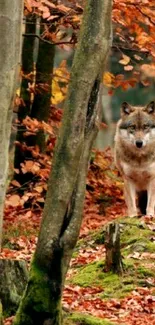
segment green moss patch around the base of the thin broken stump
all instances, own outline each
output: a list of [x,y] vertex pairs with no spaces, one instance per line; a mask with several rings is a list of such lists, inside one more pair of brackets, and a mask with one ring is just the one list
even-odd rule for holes
[[124,274],[119,277],[117,274],[104,272],[103,262],[94,262],[89,265],[79,267],[78,272],[73,275],[70,282],[82,287],[99,286],[103,288],[101,298],[123,298],[128,292],[134,290],[137,286],[146,285],[145,279],[155,277],[155,271],[142,267],[141,261],[129,259],[124,263]]

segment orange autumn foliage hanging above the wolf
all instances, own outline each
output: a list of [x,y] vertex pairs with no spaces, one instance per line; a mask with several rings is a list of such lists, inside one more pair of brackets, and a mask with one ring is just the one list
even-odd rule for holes
[[[112,89],[127,90],[140,82],[150,86],[155,76],[155,6],[153,0],[114,0],[113,50],[118,51],[124,74],[111,75]],[[145,63],[145,61],[147,61]]]

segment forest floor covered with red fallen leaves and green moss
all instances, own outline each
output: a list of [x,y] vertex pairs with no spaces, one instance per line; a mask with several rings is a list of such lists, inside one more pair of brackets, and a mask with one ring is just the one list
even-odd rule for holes
[[[0,258],[29,263],[36,246],[41,209],[33,211],[27,200],[26,207],[21,202],[17,205],[15,193],[6,198]],[[65,325],[155,325],[155,223],[147,216],[128,218],[125,214],[123,183],[111,150],[94,151],[83,223],[63,294],[63,308],[69,314]],[[105,270],[105,227],[113,220],[120,224],[124,267],[121,276]],[[11,325],[12,319],[13,316],[5,319],[4,324]]]

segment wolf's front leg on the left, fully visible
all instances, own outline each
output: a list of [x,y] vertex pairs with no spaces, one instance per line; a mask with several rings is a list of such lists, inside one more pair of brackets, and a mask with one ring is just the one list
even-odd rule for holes
[[135,185],[128,179],[124,180],[124,198],[128,208],[128,215],[130,217],[136,216],[136,188]]

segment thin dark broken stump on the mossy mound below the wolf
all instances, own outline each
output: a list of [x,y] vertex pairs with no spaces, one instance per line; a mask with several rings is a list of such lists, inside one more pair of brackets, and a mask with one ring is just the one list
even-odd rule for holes
[[120,251],[120,228],[118,223],[110,223],[106,228],[106,271],[121,274],[123,272]]

